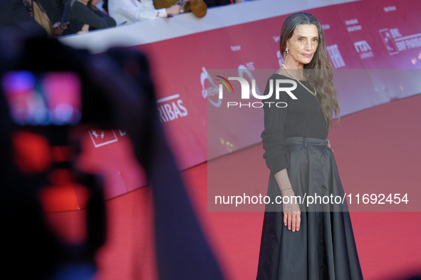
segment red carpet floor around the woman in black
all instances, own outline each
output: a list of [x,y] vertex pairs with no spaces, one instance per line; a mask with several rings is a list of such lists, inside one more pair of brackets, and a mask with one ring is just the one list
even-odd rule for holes
[[[420,200],[421,95],[396,100],[342,118],[329,134],[345,192],[404,193]],[[263,162],[261,145],[223,157],[241,165]],[[244,168],[243,168],[244,167]],[[266,170],[251,173],[267,186]],[[207,164],[182,172],[202,227],[227,279],[255,279],[263,213],[207,212]],[[257,177],[256,177],[257,176]],[[239,184],[250,182],[246,176]],[[108,242],[98,253],[101,279],[156,279],[148,187],[106,202]],[[417,211],[421,211],[420,204]],[[394,208],[388,208],[390,211]],[[396,211],[399,209],[395,208]],[[84,211],[50,215],[61,236],[83,238]],[[352,212],[365,279],[406,279],[421,274],[421,212]],[[59,230],[60,229],[60,230]]]

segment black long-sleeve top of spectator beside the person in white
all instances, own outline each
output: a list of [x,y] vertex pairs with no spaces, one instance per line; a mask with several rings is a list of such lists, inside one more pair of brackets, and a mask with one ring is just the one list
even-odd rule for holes
[[92,11],[79,1],[68,1],[64,6],[61,23],[70,21],[63,35],[74,34],[80,31],[83,24],[88,24],[93,29],[103,29],[115,26],[115,20],[102,11]]

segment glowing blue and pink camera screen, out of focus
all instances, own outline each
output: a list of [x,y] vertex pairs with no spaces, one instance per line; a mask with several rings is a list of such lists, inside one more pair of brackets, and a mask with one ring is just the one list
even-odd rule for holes
[[81,83],[73,72],[14,71],[1,78],[19,125],[73,125],[81,118]]

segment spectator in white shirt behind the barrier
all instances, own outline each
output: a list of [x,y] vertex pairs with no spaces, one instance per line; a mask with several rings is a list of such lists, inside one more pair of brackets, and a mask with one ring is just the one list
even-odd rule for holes
[[108,13],[117,24],[165,18],[168,15],[180,14],[180,10],[181,6],[178,4],[166,9],[155,9],[152,0],[108,0]]

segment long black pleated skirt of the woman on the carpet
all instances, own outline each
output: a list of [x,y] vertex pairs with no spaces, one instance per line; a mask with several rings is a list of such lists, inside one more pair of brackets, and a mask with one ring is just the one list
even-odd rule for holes
[[[294,194],[303,199],[300,230],[291,232],[284,226],[282,204],[266,204],[256,279],[363,279],[345,193],[327,141],[291,137],[285,145],[289,180]],[[268,196],[271,202],[281,197],[273,174]],[[310,203],[309,196],[325,200]]]

